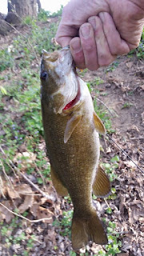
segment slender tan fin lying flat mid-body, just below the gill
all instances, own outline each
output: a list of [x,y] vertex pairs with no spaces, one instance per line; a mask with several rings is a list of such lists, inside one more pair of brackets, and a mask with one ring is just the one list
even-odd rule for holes
[[66,130],[64,134],[64,142],[66,143],[71,134],[73,133],[76,126],[78,126],[78,122],[81,121],[82,115],[81,114],[74,114],[72,118],[66,124]]

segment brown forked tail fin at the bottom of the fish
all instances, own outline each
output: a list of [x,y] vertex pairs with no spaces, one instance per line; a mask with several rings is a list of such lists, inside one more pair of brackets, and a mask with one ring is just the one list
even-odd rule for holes
[[89,241],[99,245],[105,245],[107,243],[107,237],[102,222],[95,211],[91,212],[89,218],[73,217],[71,240],[74,250],[86,246]]

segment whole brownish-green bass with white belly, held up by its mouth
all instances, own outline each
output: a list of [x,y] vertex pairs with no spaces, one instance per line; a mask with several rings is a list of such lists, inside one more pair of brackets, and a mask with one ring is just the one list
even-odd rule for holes
[[74,206],[71,241],[74,250],[89,241],[100,245],[107,236],[94,208],[110,194],[110,181],[99,165],[99,134],[105,126],[94,111],[90,91],[77,74],[68,46],[42,50],[41,104],[50,174],[60,196],[70,194]]

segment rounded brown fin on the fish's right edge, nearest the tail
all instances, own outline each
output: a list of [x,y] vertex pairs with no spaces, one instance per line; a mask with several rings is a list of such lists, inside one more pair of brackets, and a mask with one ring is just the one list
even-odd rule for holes
[[97,174],[94,179],[93,193],[98,198],[105,198],[110,194],[110,180],[101,166],[98,166]]

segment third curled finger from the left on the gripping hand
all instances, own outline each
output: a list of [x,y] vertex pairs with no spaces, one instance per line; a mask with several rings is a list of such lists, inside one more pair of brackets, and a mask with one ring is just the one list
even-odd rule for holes
[[108,66],[111,62],[114,62],[116,56],[110,53],[110,48],[103,31],[102,21],[98,16],[93,16],[88,19],[88,22],[90,22],[94,28],[98,65]]

